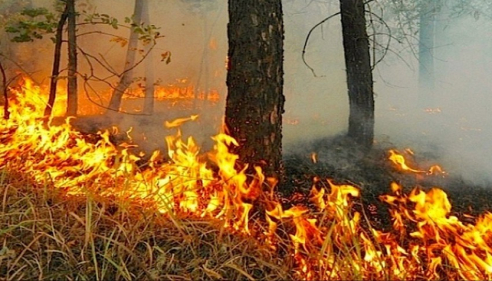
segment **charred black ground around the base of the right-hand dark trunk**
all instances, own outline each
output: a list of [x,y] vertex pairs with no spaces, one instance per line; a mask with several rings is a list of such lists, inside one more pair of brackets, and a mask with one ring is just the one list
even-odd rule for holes
[[[290,197],[297,193],[309,194],[313,185],[313,177],[331,178],[335,184],[351,184],[361,188],[361,201],[366,214],[380,227],[391,225],[388,216],[388,204],[380,200],[380,195],[391,194],[390,184],[399,183],[403,192],[413,188],[429,190],[441,188],[448,195],[453,208],[451,214],[462,221],[471,222],[464,214],[479,216],[492,211],[492,183],[476,185],[466,182],[459,175],[425,175],[402,172],[396,169],[389,159],[389,149],[402,151],[391,143],[377,143],[368,155],[357,149],[357,145],[344,136],[324,138],[312,143],[304,143],[304,153],[285,155],[287,183],[285,190]],[[311,160],[311,152],[317,153],[317,162]],[[408,165],[414,169],[428,169],[428,163],[436,161],[437,152],[415,152],[415,159],[407,158]],[[411,161],[413,160],[413,161]],[[424,164],[422,164],[424,163]],[[446,171],[446,166],[443,167]]]

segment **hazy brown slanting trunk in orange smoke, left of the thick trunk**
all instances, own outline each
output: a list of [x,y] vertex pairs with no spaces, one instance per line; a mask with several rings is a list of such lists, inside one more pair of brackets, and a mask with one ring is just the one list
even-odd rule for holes
[[[135,8],[134,8],[134,22],[136,25],[140,25],[142,22],[142,11],[143,11],[143,1],[135,0]],[[122,105],[122,98],[124,91],[128,89],[131,85],[131,79],[133,77],[133,67],[136,56],[136,49],[138,47],[138,34],[135,32],[135,28],[131,28],[130,31],[130,39],[128,43],[127,49],[127,58],[125,59],[124,64],[124,72],[122,77],[119,79],[119,83],[116,88],[112,92],[110,104],[108,105],[108,111],[106,112],[109,115],[113,115],[114,113],[119,111],[119,107]]]

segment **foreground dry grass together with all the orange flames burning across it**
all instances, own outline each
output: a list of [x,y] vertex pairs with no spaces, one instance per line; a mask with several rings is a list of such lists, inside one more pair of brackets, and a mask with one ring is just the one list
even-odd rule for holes
[[178,131],[167,137],[169,161],[155,152],[143,167],[108,132],[89,142],[68,122],[45,124],[39,96],[23,86],[0,126],[8,280],[492,278],[492,214],[463,223],[440,189],[391,184],[383,231],[353,185],[315,179],[309,199],[283,202],[274,179],[238,167],[224,133],[207,155]]

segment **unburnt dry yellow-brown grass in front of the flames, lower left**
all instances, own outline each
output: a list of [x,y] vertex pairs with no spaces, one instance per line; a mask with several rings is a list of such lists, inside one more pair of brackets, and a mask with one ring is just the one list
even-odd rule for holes
[[67,197],[0,172],[0,280],[291,280],[292,264],[220,222]]

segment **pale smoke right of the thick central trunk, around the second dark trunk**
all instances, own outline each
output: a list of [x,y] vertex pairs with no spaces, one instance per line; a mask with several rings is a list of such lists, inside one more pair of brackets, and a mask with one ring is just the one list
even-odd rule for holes
[[[333,136],[347,131],[349,108],[341,27],[339,18],[333,18],[323,30],[313,32],[306,48],[306,60],[318,75],[313,77],[300,58],[304,39],[313,25],[338,11],[337,1],[287,3],[285,150],[301,147],[306,154],[314,148],[306,148],[306,143],[318,138],[331,142]],[[417,49],[412,51],[408,45],[393,41],[391,51],[377,65],[375,138],[378,143],[429,155],[452,176],[461,176],[472,184],[487,184],[492,181],[492,150],[488,149],[492,143],[492,44],[488,37],[492,22],[485,16],[477,19],[471,15],[440,20],[436,22],[432,50],[436,77],[430,93],[433,98],[426,100],[419,94]],[[387,38],[377,39],[383,43]],[[418,42],[409,40],[415,48]],[[432,104],[432,99],[434,106],[422,107]]]

